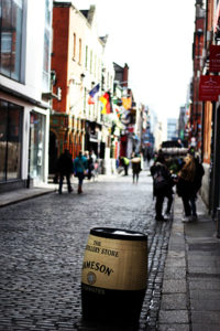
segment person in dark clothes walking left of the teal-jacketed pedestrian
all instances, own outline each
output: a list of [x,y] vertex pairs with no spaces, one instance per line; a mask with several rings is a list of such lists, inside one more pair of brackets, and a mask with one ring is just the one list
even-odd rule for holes
[[70,175],[73,173],[73,159],[72,154],[69,153],[68,149],[65,149],[64,153],[61,154],[57,161],[57,171],[59,177],[59,186],[58,186],[58,193],[62,194],[62,188],[64,178],[66,178],[68,192],[70,193],[73,191],[72,184],[70,184]]

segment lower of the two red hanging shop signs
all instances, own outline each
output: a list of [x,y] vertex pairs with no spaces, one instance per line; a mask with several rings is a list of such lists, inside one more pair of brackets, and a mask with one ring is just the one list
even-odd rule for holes
[[217,102],[220,95],[220,76],[200,76],[199,100]]

